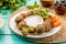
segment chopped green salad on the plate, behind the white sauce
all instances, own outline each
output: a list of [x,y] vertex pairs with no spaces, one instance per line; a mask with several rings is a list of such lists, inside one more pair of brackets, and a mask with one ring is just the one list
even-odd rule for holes
[[47,9],[42,9],[42,8],[37,8],[34,10],[34,14],[36,15],[41,15],[42,18],[44,19],[47,19],[50,15],[48,15],[48,10]]

